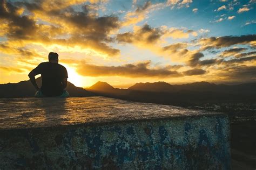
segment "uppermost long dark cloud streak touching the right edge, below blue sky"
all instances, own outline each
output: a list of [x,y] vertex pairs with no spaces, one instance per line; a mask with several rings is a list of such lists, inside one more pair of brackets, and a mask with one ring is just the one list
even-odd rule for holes
[[240,37],[224,36],[224,37],[210,37],[200,39],[199,42],[203,45],[203,49],[229,47],[237,44],[249,44],[256,40],[256,34],[244,35]]

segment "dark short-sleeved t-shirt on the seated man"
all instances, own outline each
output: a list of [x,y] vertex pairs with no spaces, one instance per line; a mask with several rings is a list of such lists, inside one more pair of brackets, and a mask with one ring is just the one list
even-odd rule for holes
[[41,91],[46,96],[59,96],[63,93],[62,80],[68,78],[66,68],[58,63],[42,62],[33,73],[41,74]]

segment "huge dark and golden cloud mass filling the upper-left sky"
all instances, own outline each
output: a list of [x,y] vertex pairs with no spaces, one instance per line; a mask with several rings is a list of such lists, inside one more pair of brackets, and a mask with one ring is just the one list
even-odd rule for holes
[[[82,1],[37,1],[33,3],[2,1],[0,17],[8,24],[4,36],[22,46],[39,42],[44,45],[80,46],[108,56],[119,54],[119,49],[109,46],[111,32],[119,29],[115,16],[98,17],[90,5],[76,11],[70,4]],[[16,4],[17,6],[15,6]],[[21,15],[23,8],[31,15]],[[38,24],[37,18],[47,24]],[[64,38],[61,38],[64,37]]]

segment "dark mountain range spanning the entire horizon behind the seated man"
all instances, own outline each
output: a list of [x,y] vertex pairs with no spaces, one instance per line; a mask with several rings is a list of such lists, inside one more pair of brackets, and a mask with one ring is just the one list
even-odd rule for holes
[[[36,79],[41,84],[41,77]],[[66,90],[71,97],[106,96],[137,102],[151,102],[170,105],[194,105],[198,103],[255,102],[256,83],[238,85],[194,82],[172,85],[166,82],[136,83],[128,89],[114,88],[106,82],[97,82],[83,89],[68,82]],[[36,89],[31,82],[0,84],[0,98],[33,97]]]

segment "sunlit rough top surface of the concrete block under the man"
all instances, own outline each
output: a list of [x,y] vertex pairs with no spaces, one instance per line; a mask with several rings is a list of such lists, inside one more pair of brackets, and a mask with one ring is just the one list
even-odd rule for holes
[[215,114],[107,97],[0,98],[0,130]]

